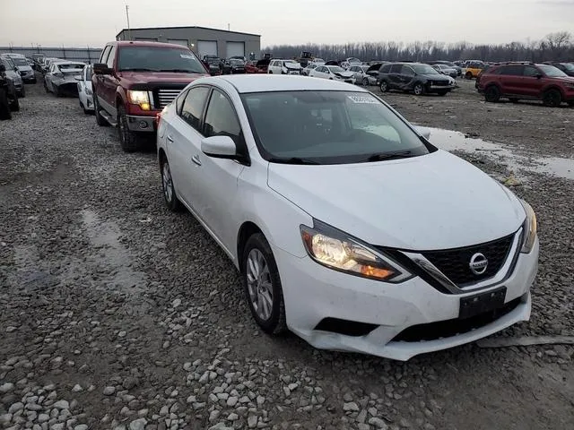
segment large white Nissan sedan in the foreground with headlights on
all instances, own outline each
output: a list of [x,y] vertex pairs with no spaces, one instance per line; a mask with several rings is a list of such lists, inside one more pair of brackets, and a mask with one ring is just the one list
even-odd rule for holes
[[202,78],[157,139],[168,208],[229,255],[268,333],[406,360],[530,317],[532,208],[367,90]]

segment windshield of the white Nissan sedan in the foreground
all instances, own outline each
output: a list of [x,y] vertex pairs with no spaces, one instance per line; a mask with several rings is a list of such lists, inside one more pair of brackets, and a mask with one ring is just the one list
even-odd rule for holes
[[257,92],[242,99],[259,149],[270,161],[347,164],[430,152],[368,92]]

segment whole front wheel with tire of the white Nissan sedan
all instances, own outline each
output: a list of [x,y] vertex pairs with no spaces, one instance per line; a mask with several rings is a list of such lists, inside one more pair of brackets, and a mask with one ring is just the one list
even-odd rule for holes
[[248,238],[241,262],[245,297],[256,323],[266,333],[284,333],[287,323],[283,288],[273,251],[263,234]]

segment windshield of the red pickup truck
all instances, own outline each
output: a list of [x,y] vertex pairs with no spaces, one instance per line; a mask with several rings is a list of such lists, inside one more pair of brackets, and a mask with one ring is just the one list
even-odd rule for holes
[[120,72],[205,73],[193,52],[183,47],[120,47],[117,69]]

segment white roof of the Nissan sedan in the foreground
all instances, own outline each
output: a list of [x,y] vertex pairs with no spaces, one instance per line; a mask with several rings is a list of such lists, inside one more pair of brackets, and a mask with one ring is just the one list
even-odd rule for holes
[[230,83],[239,93],[326,90],[368,92],[360,87],[344,82],[309,78],[307,76],[282,76],[274,74],[224,74],[221,76],[202,78],[196,82],[216,84],[221,81]]

